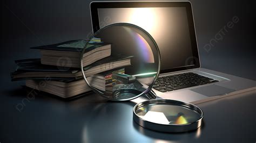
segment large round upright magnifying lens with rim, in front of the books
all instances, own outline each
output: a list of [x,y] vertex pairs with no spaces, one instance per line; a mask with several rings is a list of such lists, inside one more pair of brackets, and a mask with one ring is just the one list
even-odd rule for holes
[[160,53],[144,29],[117,23],[98,30],[86,43],[81,67],[96,93],[116,101],[149,93],[160,71]]

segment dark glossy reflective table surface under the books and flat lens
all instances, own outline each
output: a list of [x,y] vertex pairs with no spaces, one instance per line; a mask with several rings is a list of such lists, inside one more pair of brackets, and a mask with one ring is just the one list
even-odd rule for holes
[[133,121],[131,101],[112,102],[95,93],[66,101],[38,91],[27,96],[13,86],[1,92],[1,143],[256,141],[255,91],[198,104],[204,125],[196,131],[160,133]]

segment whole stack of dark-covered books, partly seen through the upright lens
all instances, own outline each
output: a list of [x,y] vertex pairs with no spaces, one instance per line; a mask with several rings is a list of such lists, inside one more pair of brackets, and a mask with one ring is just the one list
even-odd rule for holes
[[111,55],[111,44],[95,38],[87,45],[81,62],[86,43],[87,40],[70,40],[32,47],[40,51],[41,58],[16,60],[11,80],[25,80],[27,87],[62,98],[76,97],[91,91],[80,70],[83,63],[86,80],[92,87],[111,90],[115,84],[112,74],[124,73],[132,56]]

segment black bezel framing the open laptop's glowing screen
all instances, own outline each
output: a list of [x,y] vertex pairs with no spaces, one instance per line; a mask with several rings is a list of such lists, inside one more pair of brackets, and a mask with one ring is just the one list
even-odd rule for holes
[[[188,57],[193,60],[194,65],[174,67],[171,69],[160,70],[160,73],[176,72],[183,70],[196,69],[200,67],[198,54],[196,31],[194,29],[194,19],[192,6],[190,2],[91,2],[91,22],[93,33],[100,29],[98,8],[160,8],[160,7],[185,7],[187,13],[188,27],[190,30],[190,39],[193,57]],[[190,59],[190,60],[191,60]]]

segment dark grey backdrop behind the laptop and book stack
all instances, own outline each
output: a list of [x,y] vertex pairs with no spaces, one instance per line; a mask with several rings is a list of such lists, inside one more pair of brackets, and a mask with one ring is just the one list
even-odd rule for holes
[[[39,57],[29,47],[86,38],[91,32],[91,1],[4,1],[1,75],[9,78],[15,59]],[[191,1],[201,66],[256,80],[255,2]],[[239,22],[210,51],[203,47],[234,16]],[[8,83],[9,81],[6,80]]]

